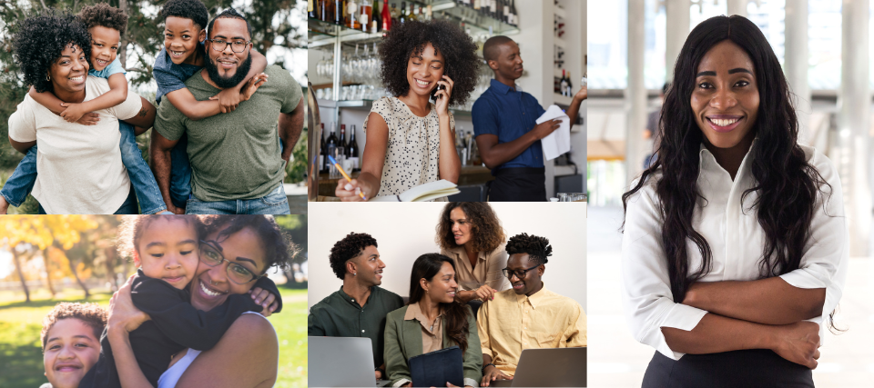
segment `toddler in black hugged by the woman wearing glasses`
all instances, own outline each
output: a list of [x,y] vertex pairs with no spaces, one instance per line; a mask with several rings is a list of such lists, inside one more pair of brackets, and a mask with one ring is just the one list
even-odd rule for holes
[[[130,332],[130,346],[139,368],[152,386],[167,371],[173,354],[186,348],[208,350],[219,343],[230,325],[245,312],[279,313],[279,290],[266,276],[260,277],[249,294],[230,294],[225,303],[203,312],[192,306],[189,283],[198,270],[203,224],[194,215],[129,216],[121,227],[123,250],[133,254],[140,268],[134,276],[131,299],[151,320]],[[261,289],[275,296],[276,303],[253,301]],[[269,305],[269,307],[265,307]],[[97,364],[86,373],[80,388],[121,387],[112,348],[104,331]]]

